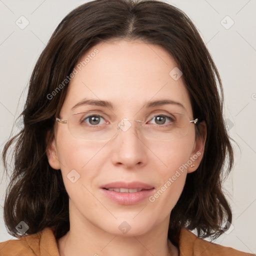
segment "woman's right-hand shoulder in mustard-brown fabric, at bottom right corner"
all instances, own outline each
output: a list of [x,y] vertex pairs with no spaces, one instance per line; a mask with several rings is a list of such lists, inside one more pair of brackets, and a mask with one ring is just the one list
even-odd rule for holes
[[180,231],[179,251],[180,256],[255,256],[255,254],[201,239],[185,228]]

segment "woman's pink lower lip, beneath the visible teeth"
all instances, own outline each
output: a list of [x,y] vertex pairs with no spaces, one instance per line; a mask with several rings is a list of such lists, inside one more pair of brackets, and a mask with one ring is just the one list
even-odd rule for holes
[[134,193],[116,192],[116,191],[107,190],[105,188],[102,188],[102,190],[103,190],[103,193],[114,202],[119,204],[124,204],[124,205],[130,205],[130,204],[138,203],[144,200],[145,198],[148,198],[151,195],[154,188],[141,190]]

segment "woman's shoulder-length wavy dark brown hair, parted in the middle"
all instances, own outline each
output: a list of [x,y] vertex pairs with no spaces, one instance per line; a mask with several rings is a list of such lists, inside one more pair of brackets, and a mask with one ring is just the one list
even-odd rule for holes
[[[7,169],[7,151],[15,143],[14,170],[4,202],[8,232],[18,236],[15,226],[21,220],[29,226],[27,234],[53,227],[59,238],[68,231],[68,195],[60,170],[50,167],[45,153],[68,83],[54,96],[47,95],[73,71],[89,48],[111,39],[140,39],[160,45],[183,72],[193,116],[205,121],[207,136],[201,163],[187,174],[171,211],[168,237],[175,243],[174,236],[181,227],[196,229],[200,237],[218,237],[223,221],[232,220],[221,188],[222,178],[233,164],[222,115],[221,80],[191,20],[178,8],[158,0],[90,1],[72,10],[53,32],[30,78],[22,112],[24,127],[5,144],[2,153]],[[46,141],[48,131],[51,135]],[[198,129],[197,134],[200,132]]]

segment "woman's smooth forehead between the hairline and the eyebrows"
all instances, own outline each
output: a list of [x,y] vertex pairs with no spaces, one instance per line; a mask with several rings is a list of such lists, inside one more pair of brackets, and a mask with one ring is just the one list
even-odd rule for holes
[[[95,53],[96,52],[96,53]],[[169,72],[176,63],[159,45],[142,41],[100,42],[76,63],[61,111],[84,98],[110,101],[122,111],[137,111],[149,100],[178,101],[191,115],[188,92],[182,80]]]

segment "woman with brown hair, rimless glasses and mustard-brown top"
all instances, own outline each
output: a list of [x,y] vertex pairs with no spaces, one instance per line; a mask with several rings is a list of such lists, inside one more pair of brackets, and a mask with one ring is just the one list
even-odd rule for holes
[[0,243],[0,255],[252,255],[199,238],[232,220],[222,101],[212,58],[179,9],[95,0],[71,11],[3,151],[6,167],[16,142],[4,220],[22,237]]

